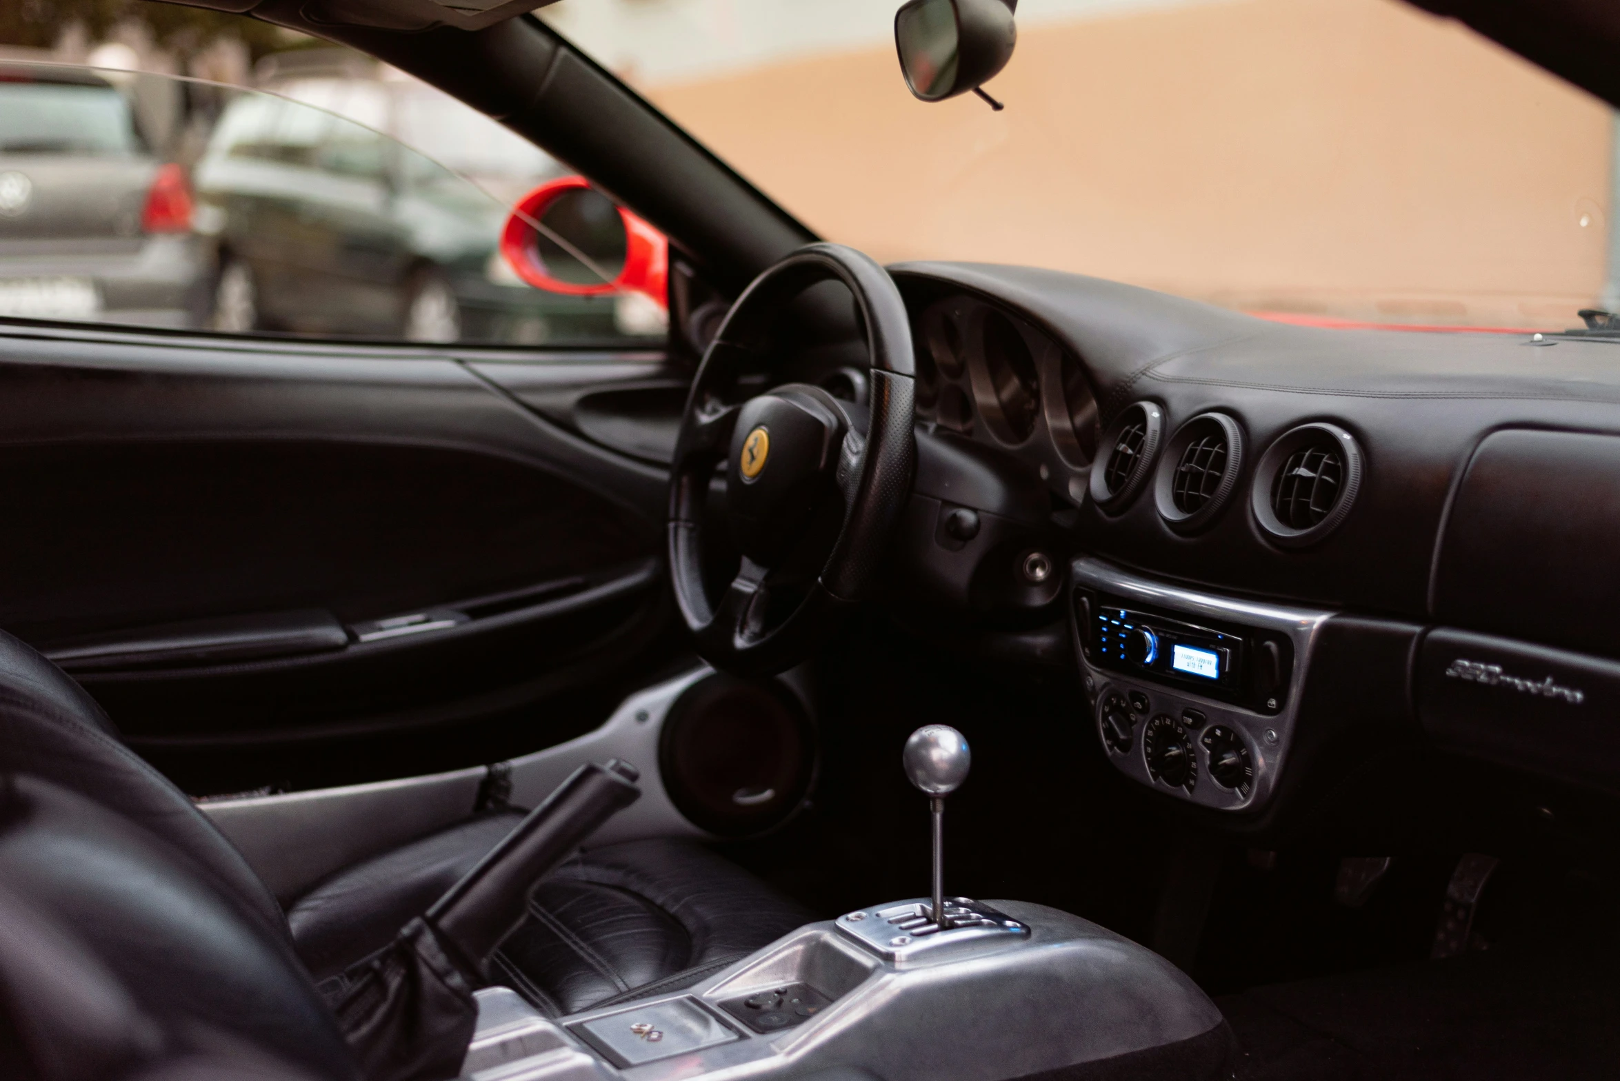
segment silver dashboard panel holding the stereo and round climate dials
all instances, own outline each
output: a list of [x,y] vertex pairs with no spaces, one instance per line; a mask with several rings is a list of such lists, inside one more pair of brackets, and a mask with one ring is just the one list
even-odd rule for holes
[[1089,715],[1115,769],[1207,808],[1264,806],[1332,613],[1192,592],[1094,558],[1069,570]]

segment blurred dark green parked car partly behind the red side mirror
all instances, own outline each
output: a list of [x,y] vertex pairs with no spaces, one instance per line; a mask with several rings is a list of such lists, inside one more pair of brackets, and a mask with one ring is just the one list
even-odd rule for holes
[[[280,87],[301,100],[241,92],[225,107],[196,167],[199,220],[219,241],[214,327],[411,341],[622,338],[624,301],[522,282],[497,249],[507,206],[377,129],[416,105],[410,87],[303,78]],[[356,112],[377,128],[348,118]],[[629,330],[663,333],[646,322]]]

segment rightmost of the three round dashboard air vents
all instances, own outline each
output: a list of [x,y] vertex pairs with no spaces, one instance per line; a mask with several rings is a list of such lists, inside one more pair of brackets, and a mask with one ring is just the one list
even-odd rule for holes
[[1361,447],[1336,424],[1290,429],[1254,471],[1254,519],[1283,547],[1315,544],[1345,521],[1361,489]]

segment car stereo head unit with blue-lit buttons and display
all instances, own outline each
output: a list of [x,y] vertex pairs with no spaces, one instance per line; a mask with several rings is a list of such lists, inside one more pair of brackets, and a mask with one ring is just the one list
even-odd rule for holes
[[1184,686],[1260,712],[1283,706],[1293,647],[1286,636],[1189,623],[1090,589],[1074,594],[1081,651],[1098,668]]

